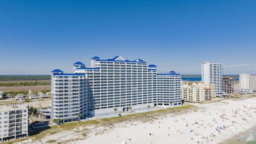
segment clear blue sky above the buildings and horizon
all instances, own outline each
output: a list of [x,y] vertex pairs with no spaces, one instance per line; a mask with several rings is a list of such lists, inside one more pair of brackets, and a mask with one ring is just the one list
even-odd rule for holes
[[72,73],[94,56],[256,74],[256,0],[0,0],[0,75]]

